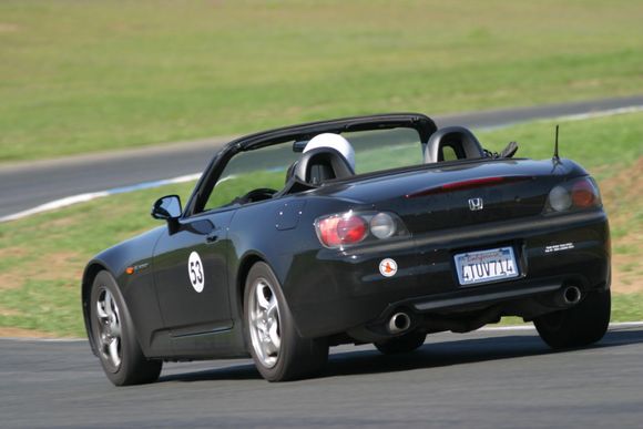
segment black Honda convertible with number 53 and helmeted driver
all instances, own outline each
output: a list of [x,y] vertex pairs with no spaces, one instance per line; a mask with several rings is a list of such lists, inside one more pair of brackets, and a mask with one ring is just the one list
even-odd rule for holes
[[516,150],[417,113],[237,139],[184,206],[154,204],[163,226],[88,264],[93,353],[131,385],[163,361],[248,354],[267,380],[309,377],[330,346],[408,353],[509,315],[553,348],[598,341],[611,303],[596,183]]

